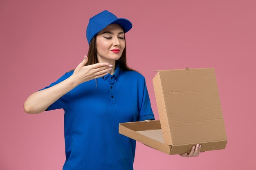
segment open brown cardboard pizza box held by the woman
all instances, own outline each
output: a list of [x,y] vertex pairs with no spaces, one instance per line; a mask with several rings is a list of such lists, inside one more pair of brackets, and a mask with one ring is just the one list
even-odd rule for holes
[[159,70],[153,78],[160,120],[119,124],[119,133],[168,155],[225,149],[214,68]]

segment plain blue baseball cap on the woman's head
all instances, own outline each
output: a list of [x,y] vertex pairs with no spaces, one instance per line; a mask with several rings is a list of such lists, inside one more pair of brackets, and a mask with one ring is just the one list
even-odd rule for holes
[[97,15],[94,15],[89,20],[89,24],[86,29],[86,38],[89,45],[94,35],[106,28],[109,24],[119,24],[125,33],[132,28],[132,23],[129,20],[125,18],[117,18],[116,15],[107,10],[102,11]]

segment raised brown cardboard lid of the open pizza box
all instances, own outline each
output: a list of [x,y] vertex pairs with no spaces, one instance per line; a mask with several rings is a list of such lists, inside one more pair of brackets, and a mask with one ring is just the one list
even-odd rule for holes
[[153,86],[165,144],[227,140],[214,68],[158,70]]

